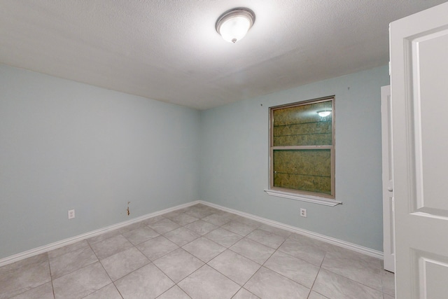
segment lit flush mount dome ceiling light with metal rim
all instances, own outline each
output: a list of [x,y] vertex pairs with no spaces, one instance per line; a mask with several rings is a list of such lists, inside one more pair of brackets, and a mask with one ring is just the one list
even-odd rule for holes
[[236,43],[246,36],[255,22],[255,13],[248,8],[238,7],[226,11],[216,21],[216,31],[225,41]]

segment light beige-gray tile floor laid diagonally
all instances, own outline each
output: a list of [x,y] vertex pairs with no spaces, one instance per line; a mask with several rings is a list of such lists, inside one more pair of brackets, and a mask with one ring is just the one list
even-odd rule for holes
[[390,299],[393,279],[377,258],[197,204],[0,267],[0,299]]

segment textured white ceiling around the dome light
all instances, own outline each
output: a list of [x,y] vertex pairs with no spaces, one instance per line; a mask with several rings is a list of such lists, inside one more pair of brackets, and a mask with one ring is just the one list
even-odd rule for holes
[[[0,63],[195,109],[388,62],[388,23],[441,0],[0,0]],[[232,44],[216,19],[256,15]]]

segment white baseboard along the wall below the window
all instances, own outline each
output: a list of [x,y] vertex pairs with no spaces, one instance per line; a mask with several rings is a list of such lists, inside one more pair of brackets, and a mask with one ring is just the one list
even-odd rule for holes
[[364,246],[360,246],[360,245],[357,245],[357,244],[353,244],[353,243],[350,243],[350,242],[342,241],[340,239],[336,239],[336,238],[333,238],[333,237],[328,237],[328,236],[325,236],[325,235],[321,235],[321,234],[318,234],[316,232],[311,232],[309,230],[302,230],[302,228],[296,228],[295,226],[287,225],[287,224],[280,223],[280,222],[277,222],[277,221],[272,221],[272,220],[269,220],[267,218],[262,218],[260,216],[255,216],[255,215],[252,215],[252,214],[244,213],[242,211],[237,211],[235,209],[229,209],[229,208],[226,208],[226,207],[222,207],[222,206],[220,206],[218,204],[212,204],[210,202],[204,202],[202,200],[199,200],[198,202],[201,203],[201,204],[205,204],[205,205],[207,205],[209,207],[214,207],[216,209],[221,209],[223,211],[228,211],[229,213],[237,214],[239,216],[243,216],[243,217],[246,217],[246,218],[249,218],[249,219],[261,222],[261,223],[265,223],[267,225],[272,225],[272,226],[275,226],[276,228],[282,228],[283,230],[289,230],[290,232],[295,232],[295,233],[297,233],[299,235],[304,235],[304,236],[311,237],[313,239],[318,239],[320,241],[327,242],[327,243],[330,243],[330,244],[333,244],[333,245],[337,245],[337,246],[340,246],[340,247],[343,247],[343,248],[346,248],[346,249],[351,249],[353,251],[356,251],[356,252],[359,252],[359,253],[363,253],[363,254],[365,254],[367,256],[373,256],[374,258],[380,258],[381,260],[384,258],[384,255],[383,255],[383,253],[381,251],[370,249],[370,248],[367,248],[367,247],[364,247]]

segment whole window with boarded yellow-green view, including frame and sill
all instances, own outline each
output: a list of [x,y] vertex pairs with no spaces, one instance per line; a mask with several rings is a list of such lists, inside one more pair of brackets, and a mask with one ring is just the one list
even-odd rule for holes
[[335,205],[335,97],[270,109],[269,190]]

